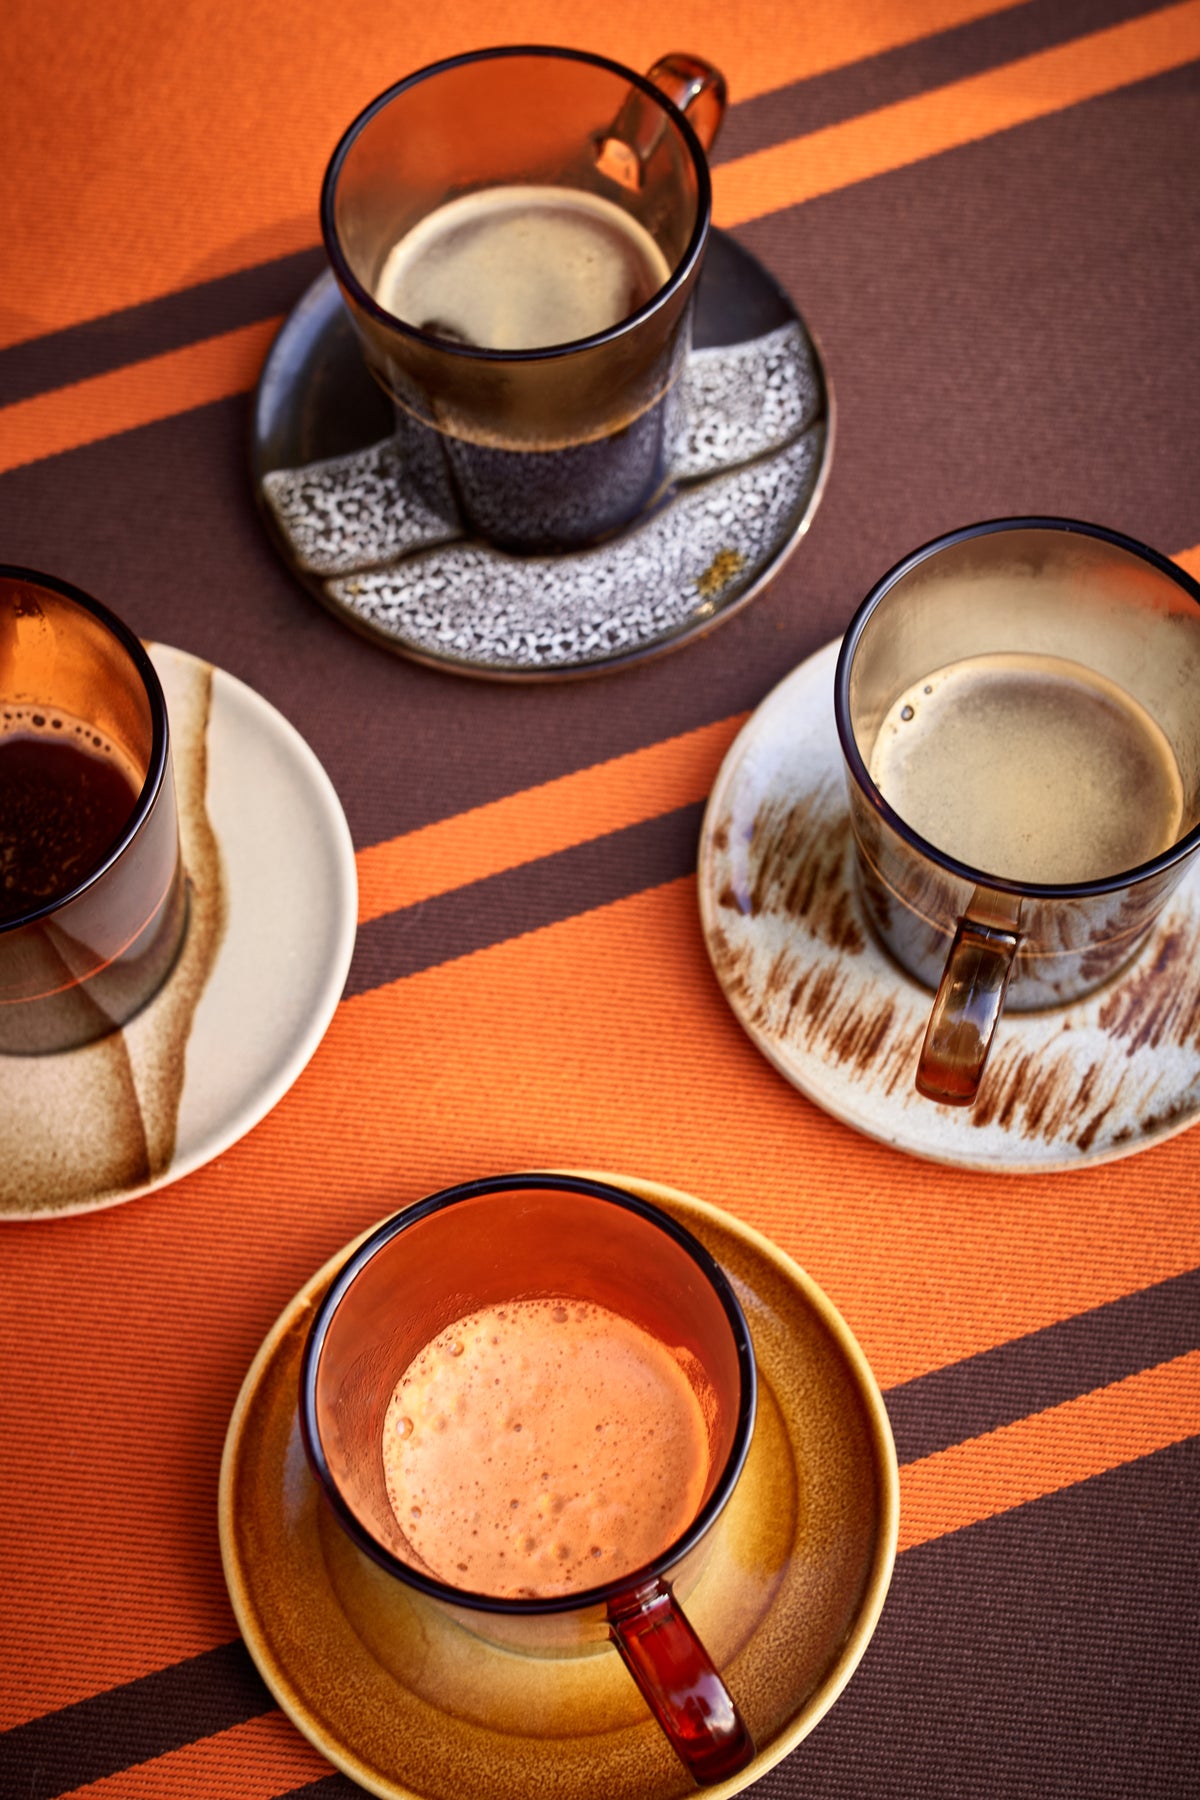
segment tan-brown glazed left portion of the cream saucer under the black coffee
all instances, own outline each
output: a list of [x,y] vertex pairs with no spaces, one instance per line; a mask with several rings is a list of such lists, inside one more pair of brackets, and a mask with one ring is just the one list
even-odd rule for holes
[[187,1037],[225,929],[209,812],[212,668],[158,659],[171,718],[187,936],[164,988],[128,1026],[56,1057],[0,1057],[0,1217],[119,1201],[171,1165]]

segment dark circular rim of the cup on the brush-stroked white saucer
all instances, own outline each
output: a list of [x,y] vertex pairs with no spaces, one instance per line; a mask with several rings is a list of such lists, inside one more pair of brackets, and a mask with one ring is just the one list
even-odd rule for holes
[[901,556],[901,560],[874,583],[846,628],[833,677],[833,715],[842,745],[842,756],[846,758],[846,765],[856,787],[871,803],[871,808],[880,814],[892,832],[896,832],[905,844],[916,850],[928,862],[937,864],[937,868],[946,869],[963,882],[970,882],[975,887],[988,887],[993,893],[1029,900],[1094,900],[1103,895],[1121,893],[1123,889],[1133,887],[1142,880],[1162,875],[1166,869],[1171,869],[1177,862],[1189,857],[1191,851],[1200,846],[1200,823],[1196,823],[1184,837],[1177,839],[1177,842],[1173,842],[1168,850],[1160,850],[1157,857],[1151,857],[1148,862],[1139,862],[1130,869],[1121,869],[1115,875],[1105,875],[1088,882],[1016,882],[1002,875],[990,875],[984,869],[973,868],[970,862],[959,862],[957,857],[948,855],[948,851],[939,850],[936,844],[930,844],[927,837],[921,837],[921,833],[896,812],[896,808],[874,785],[867,770],[865,758],[858,749],[858,740],[855,738],[855,727],[851,725],[849,716],[849,677],[858,643],[876,608],[887,599],[903,576],[919,567],[919,563],[928,562],[939,551],[952,549],[955,544],[963,544],[968,538],[982,538],[991,536],[993,533],[1009,531],[1074,533],[1078,536],[1097,538],[1103,544],[1112,544],[1114,547],[1137,556],[1159,574],[1168,576],[1168,580],[1180,587],[1184,594],[1187,594],[1187,598],[1200,607],[1200,581],[1195,581],[1186,569],[1180,569],[1178,563],[1171,562],[1171,558],[1164,556],[1160,551],[1151,549],[1150,544],[1142,544],[1139,538],[1132,538],[1123,531],[1112,531],[1108,526],[1094,526],[1079,518],[1063,518],[1051,513],[1033,513],[1015,515],[1011,518],[984,518],[973,526],[961,526],[955,531],[946,531],[941,536],[930,538],[928,544],[921,544],[918,549],[909,551],[907,556]]

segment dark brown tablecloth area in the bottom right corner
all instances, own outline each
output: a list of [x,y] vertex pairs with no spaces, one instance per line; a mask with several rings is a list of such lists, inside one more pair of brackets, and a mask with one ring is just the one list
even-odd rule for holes
[[1195,1800],[1198,1503],[1195,1438],[907,1552],[754,1800]]

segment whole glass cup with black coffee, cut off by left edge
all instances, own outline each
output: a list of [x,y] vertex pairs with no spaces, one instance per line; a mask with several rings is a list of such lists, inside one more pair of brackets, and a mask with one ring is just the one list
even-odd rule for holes
[[0,567],[0,1055],[126,1024],[185,925],[153,662],[88,594]]

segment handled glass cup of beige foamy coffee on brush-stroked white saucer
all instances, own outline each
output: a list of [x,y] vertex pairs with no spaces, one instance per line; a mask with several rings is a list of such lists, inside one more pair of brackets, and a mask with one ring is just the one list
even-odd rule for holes
[[1198,695],[1200,583],[1101,526],[952,531],[865,598],[835,715],[867,918],[936,990],[927,1098],[1137,954],[1200,850]]

